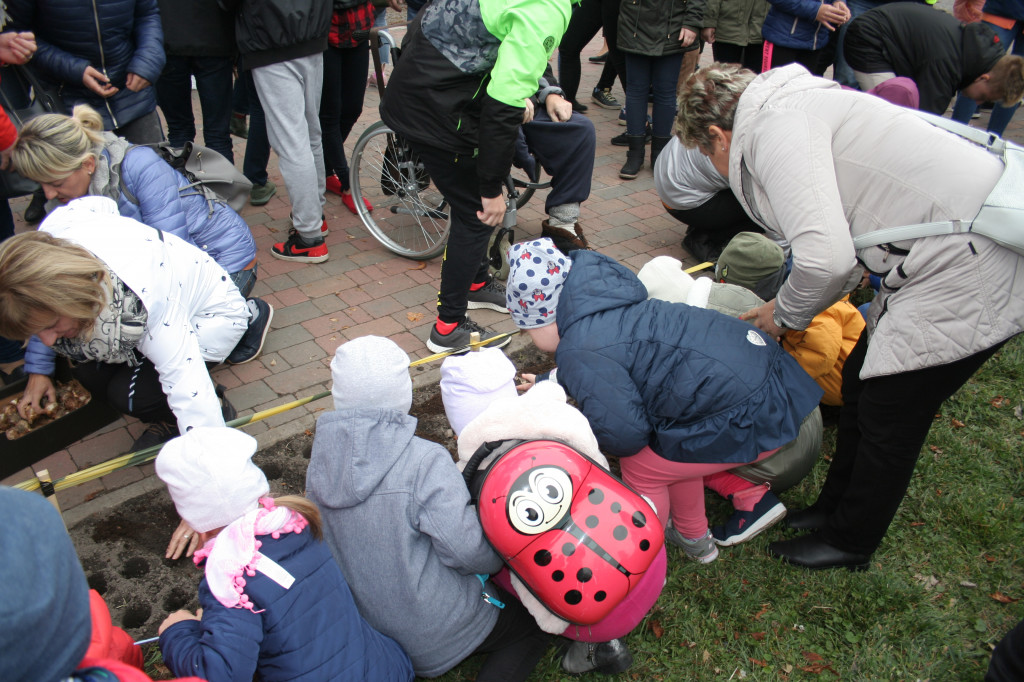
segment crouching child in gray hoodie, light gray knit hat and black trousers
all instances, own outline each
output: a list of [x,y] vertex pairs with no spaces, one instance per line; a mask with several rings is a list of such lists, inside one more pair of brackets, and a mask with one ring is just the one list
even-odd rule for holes
[[331,373],[335,411],[316,422],[306,495],[359,612],[420,677],[487,653],[477,680],[525,680],[551,636],[486,580],[502,560],[462,474],[446,450],[414,435],[409,355],[361,337],[338,348]]

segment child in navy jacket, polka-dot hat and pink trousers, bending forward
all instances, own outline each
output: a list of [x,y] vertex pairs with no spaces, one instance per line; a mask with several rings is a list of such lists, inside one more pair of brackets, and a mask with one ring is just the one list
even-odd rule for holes
[[542,239],[513,246],[509,258],[513,322],[555,352],[554,378],[601,452],[622,458],[626,482],[671,520],[666,540],[713,561],[703,476],[797,438],[821,389],[768,335],[714,310],[647,300],[640,280],[607,256],[574,251],[569,260]]

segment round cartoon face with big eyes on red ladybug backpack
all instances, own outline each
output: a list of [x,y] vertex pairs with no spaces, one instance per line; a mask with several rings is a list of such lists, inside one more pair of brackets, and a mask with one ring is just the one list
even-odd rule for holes
[[536,536],[557,526],[569,511],[572,479],[558,467],[536,467],[519,476],[508,498],[512,527]]

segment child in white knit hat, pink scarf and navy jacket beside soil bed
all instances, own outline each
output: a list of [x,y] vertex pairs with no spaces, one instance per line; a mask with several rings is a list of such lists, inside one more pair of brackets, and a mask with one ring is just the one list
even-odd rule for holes
[[181,518],[200,534],[198,614],[171,613],[160,650],[175,675],[209,680],[412,680],[409,656],[359,615],[321,542],[316,507],[273,500],[256,440],[197,427],[157,457]]

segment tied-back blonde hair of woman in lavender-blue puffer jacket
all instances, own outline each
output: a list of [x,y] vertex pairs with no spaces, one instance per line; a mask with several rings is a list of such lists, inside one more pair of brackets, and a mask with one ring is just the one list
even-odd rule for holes
[[62,180],[103,147],[103,120],[87,104],[72,116],[43,114],[22,128],[11,152],[11,164],[36,182]]

